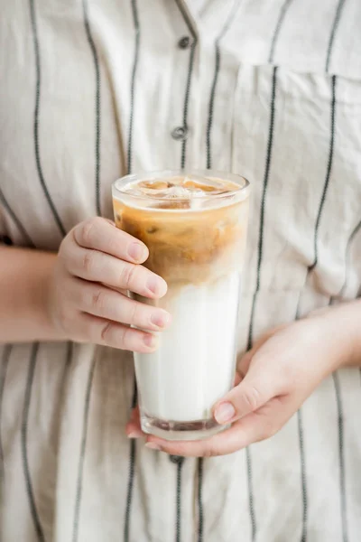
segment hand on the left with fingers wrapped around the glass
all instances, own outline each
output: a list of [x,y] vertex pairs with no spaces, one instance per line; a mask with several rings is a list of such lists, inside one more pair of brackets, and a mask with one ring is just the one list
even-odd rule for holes
[[85,220],[71,229],[60,245],[48,297],[60,334],[124,350],[156,350],[152,332],[167,327],[170,314],[119,291],[154,300],[166,294],[165,281],[141,265],[147,257],[141,241],[109,220]]

